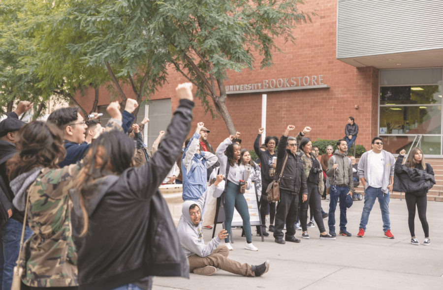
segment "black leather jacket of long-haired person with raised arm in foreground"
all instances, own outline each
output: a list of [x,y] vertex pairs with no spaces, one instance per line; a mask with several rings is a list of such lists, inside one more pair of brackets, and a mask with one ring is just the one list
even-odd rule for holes
[[85,199],[89,215],[85,237],[78,237],[78,193],[69,191],[80,290],[110,290],[148,276],[189,278],[188,259],[158,186],[181,152],[193,106],[189,100],[180,101],[161,146],[148,162],[95,181],[98,188]]

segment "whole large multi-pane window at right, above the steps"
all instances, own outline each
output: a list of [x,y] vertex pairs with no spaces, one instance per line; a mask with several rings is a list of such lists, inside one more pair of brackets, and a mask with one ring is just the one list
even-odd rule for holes
[[417,135],[427,157],[442,156],[442,68],[380,72],[379,134],[383,149],[408,152]]

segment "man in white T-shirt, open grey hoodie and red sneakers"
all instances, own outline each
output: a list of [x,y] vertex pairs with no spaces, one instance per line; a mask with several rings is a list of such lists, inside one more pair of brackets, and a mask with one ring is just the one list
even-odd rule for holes
[[389,221],[389,194],[394,182],[395,158],[383,150],[383,140],[375,137],[372,150],[363,153],[358,163],[357,174],[365,188],[365,204],[361,214],[360,229],[357,236],[363,237],[372,207],[379,199],[384,236],[394,238]]

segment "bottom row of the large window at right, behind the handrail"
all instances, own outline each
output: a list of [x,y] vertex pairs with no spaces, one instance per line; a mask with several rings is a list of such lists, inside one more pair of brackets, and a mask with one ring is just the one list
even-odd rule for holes
[[[392,154],[398,154],[402,149],[405,149],[406,152],[409,152],[415,136],[383,136],[382,138],[383,149]],[[423,136],[423,138],[421,139],[421,145],[419,144],[416,146],[421,148],[423,154],[440,155],[440,138],[440,136]]]

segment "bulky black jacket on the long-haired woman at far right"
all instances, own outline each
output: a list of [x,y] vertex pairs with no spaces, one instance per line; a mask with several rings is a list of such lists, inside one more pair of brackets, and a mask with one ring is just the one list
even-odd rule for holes
[[394,188],[393,191],[412,193],[416,196],[423,196],[434,186],[434,171],[426,163],[426,171],[420,164],[415,168],[407,167],[407,163],[402,165],[404,156],[398,155],[394,167]]

